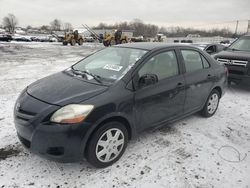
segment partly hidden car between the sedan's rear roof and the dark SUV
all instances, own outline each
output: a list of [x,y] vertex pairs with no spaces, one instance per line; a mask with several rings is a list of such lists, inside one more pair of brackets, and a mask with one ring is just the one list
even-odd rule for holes
[[222,44],[216,43],[193,43],[193,46],[200,48],[203,51],[206,51],[208,54],[212,55],[218,53],[225,49],[225,46]]

